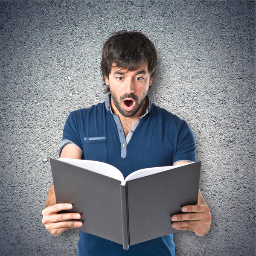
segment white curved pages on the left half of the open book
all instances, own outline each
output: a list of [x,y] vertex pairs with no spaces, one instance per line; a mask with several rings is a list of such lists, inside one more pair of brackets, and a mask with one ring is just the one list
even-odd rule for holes
[[92,161],[92,160],[64,158],[64,157],[59,158],[58,161],[70,163],[74,166],[81,167],[83,169],[87,169],[92,172],[96,172],[116,180],[120,180],[121,183],[124,180],[124,176],[122,175],[122,173],[116,167],[108,163],[102,163],[102,162]]

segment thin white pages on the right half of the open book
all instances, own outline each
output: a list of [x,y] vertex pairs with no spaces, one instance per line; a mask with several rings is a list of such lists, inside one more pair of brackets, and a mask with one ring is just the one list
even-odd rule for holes
[[[192,163],[195,163],[195,162],[192,162]],[[152,175],[152,174],[155,174],[155,173],[158,173],[158,172],[164,172],[164,171],[167,171],[167,170],[170,170],[170,169],[175,169],[177,167],[185,166],[185,165],[188,165],[188,164],[191,164],[191,163],[180,164],[180,165],[177,165],[177,166],[161,166],[161,167],[152,167],[152,168],[140,169],[138,171],[135,171],[135,172],[132,172],[131,174],[129,174],[125,178],[125,180],[121,182],[121,186],[125,186],[126,181],[128,181],[128,180],[135,180],[135,179],[138,179],[138,178],[141,178],[141,177]]]

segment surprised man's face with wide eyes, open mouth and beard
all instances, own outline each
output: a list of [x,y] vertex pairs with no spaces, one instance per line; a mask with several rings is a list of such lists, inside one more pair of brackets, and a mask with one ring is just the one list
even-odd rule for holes
[[113,66],[109,76],[105,76],[111,92],[111,103],[126,117],[134,116],[140,110],[152,80],[146,64],[134,71]]

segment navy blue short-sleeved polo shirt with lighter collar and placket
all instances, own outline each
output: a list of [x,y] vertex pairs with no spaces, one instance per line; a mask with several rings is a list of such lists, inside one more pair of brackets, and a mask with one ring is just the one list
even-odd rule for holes
[[[148,97],[147,101],[146,113],[126,138],[119,117],[111,111],[109,96],[103,103],[71,112],[59,154],[65,145],[73,143],[80,148],[82,159],[111,164],[124,177],[138,169],[196,161],[195,139],[186,121],[155,106]],[[123,250],[121,244],[80,232],[78,250],[79,256],[175,255],[172,234]]]

